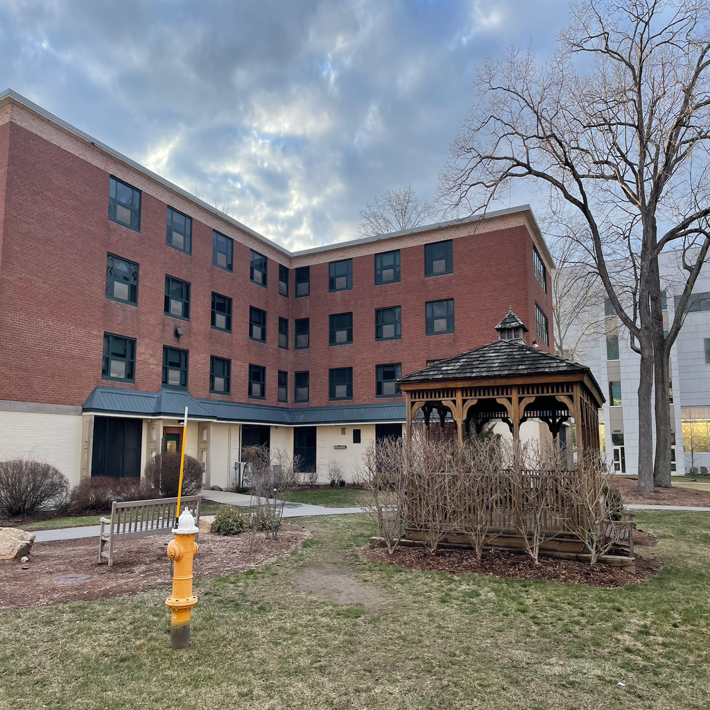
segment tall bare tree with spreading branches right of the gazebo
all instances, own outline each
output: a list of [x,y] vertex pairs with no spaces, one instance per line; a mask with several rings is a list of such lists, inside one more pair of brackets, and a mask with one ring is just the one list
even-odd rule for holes
[[[484,212],[525,180],[584,220],[601,283],[640,354],[638,488],[648,492],[655,356],[667,369],[710,247],[710,5],[579,0],[570,14],[549,62],[513,48],[506,62],[482,67],[440,192],[452,209]],[[677,247],[687,280],[663,337],[658,255]],[[618,258],[633,268],[633,302],[610,275]],[[658,435],[670,444],[665,416]],[[657,483],[670,485],[670,460]]]

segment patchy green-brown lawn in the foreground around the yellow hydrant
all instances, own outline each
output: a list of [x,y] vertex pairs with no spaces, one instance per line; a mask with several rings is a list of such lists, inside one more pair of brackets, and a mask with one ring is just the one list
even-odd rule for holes
[[[637,520],[666,567],[615,590],[366,564],[370,523],[305,520],[305,549],[197,580],[185,651],[168,589],[0,613],[0,708],[706,709],[709,518]],[[347,567],[378,606],[298,591]]]

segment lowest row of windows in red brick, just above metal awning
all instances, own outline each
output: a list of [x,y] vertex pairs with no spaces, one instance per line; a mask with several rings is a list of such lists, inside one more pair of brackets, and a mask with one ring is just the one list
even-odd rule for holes
[[[180,348],[163,346],[163,386],[187,389],[187,361],[189,352]],[[375,394],[377,397],[398,397],[397,384],[402,376],[400,363],[375,367]],[[102,378],[121,382],[136,381],[136,341],[120,335],[104,333],[104,358]],[[353,369],[333,368],[328,371],[329,399],[353,398]],[[215,394],[231,393],[231,360],[209,358],[209,391]],[[288,372],[278,371],[278,401],[288,402]],[[266,368],[249,365],[249,397],[266,398]],[[294,373],[294,402],[307,402],[310,398],[310,373]]]

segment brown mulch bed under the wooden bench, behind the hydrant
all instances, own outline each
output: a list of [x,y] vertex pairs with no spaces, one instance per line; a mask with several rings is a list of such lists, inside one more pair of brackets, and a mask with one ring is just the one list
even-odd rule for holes
[[[15,560],[0,562],[0,611],[136,594],[143,589],[163,588],[167,596],[173,569],[166,549],[172,537],[156,535],[117,542],[111,569],[105,562],[99,564],[95,537],[37,543],[28,564]],[[220,537],[201,532],[195,579],[220,577],[268,564],[299,547],[307,537],[307,530],[297,525],[284,525],[278,540],[265,540],[260,532],[249,555],[249,536],[244,533]]]

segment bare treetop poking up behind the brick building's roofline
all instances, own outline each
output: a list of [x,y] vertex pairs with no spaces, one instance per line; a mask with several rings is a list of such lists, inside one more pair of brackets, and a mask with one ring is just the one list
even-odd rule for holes
[[417,197],[411,185],[399,190],[387,190],[360,210],[360,236],[376,236],[393,231],[414,229],[436,219],[430,202]]

